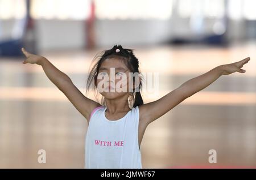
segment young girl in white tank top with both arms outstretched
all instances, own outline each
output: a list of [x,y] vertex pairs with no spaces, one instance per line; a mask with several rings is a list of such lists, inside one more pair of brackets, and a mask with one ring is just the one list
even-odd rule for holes
[[[24,48],[22,52],[27,58],[22,63],[42,66],[51,82],[87,119],[85,168],[142,168],[140,145],[147,126],[221,75],[244,73],[242,67],[250,60],[248,57],[242,61],[217,66],[181,84],[159,100],[144,104],[140,92],[142,83],[138,59],[133,50],[115,45],[98,57],[88,76],[86,91],[91,85],[97,88],[104,97],[100,104],[85,97],[72,80],[47,58],[28,53]],[[113,68],[114,78],[110,73]],[[135,74],[132,81],[129,76],[131,72]],[[99,78],[100,76],[105,77],[105,80]],[[139,81],[135,83],[134,78]],[[101,88],[102,81],[107,86]],[[118,87],[113,83],[121,85]],[[120,92],[120,88],[127,91]]]

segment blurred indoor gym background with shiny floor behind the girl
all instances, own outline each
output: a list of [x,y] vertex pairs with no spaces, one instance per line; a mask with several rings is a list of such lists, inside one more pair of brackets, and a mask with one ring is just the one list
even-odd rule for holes
[[[0,0],[0,168],[84,168],[87,122],[20,48],[43,55],[85,94],[94,55],[134,49],[159,73],[151,102],[212,68],[250,57],[151,123],[143,168],[256,168],[256,1]],[[94,98],[89,95],[90,98]],[[46,164],[38,163],[39,149]],[[208,162],[210,149],[217,163]]]

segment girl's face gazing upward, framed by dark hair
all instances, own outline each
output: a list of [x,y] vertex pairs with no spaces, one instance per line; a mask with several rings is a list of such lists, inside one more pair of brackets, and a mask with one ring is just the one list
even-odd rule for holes
[[117,58],[105,59],[98,71],[98,91],[108,99],[128,95],[129,72],[129,68],[127,68],[122,60]]

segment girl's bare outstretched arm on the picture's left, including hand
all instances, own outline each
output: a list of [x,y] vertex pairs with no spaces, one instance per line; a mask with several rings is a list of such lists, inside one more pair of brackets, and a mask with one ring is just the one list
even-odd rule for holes
[[49,80],[51,80],[51,82],[55,84],[65,96],[67,96],[68,100],[71,101],[71,103],[82,115],[84,115],[89,123],[90,113],[94,108],[100,106],[100,104],[85,97],[73,84],[68,75],[64,74],[64,72],[61,72],[55,66],[53,66],[47,58],[28,53],[24,48],[22,48],[22,52],[27,58],[22,63],[36,63],[37,65],[42,66]]

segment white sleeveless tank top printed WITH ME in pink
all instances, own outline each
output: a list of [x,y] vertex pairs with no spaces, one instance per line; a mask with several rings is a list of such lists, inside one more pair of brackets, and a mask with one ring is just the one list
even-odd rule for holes
[[138,143],[139,107],[110,121],[106,106],[93,110],[85,139],[85,168],[142,168]]

